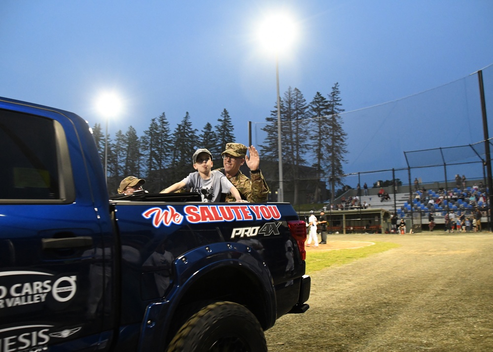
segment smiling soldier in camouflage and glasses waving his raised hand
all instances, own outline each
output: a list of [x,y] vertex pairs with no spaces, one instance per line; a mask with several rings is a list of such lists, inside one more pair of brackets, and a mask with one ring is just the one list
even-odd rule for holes
[[[247,149],[249,156],[246,155]],[[224,167],[217,170],[228,177],[240,192],[242,199],[252,203],[267,202],[269,186],[267,186],[267,182],[258,168],[260,158],[257,149],[253,145],[246,148],[246,145],[241,143],[227,143],[226,150],[221,155]],[[240,166],[245,162],[250,169],[250,178],[240,171]],[[226,197],[226,202],[235,202],[235,198],[229,194]]]

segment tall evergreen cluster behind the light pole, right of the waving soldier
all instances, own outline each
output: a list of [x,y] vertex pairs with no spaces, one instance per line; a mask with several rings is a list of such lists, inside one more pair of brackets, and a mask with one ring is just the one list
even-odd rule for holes
[[[325,98],[317,92],[307,103],[301,91],[289,87],[281,98],[282,176],[284,201],[293,204],[334,200],[335,189],[343,185],[344,155],[347,153],[346,132],[342,128],[339,83]],[[277,104],[266,117],[267,125],[261,163],[270,161],[268,172],[271,191],[278,188],[278,125]],[[328,184],[325,183],[328,180]],[[329,186],[329,189],[326,189]],[[273,199],[275,200],[275,198]]]

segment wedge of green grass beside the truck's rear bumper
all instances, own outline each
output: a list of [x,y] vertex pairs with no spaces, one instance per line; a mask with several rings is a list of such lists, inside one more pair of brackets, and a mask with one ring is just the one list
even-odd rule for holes
[[389,242],[375,242],[375,245],[355,249],[336,249],[323,252],[309,251],[306,258],[306,273],[313,274],[318,270],[334,265],[348,264],[354,260],[366,258],[400,246]]

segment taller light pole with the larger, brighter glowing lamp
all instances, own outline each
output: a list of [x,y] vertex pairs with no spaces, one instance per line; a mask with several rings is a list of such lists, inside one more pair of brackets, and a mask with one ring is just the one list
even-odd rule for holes
[[260,42],[266,50],[276,55],[276,88],[278,117],[278,158],[279,158],[279,189],[278,201],[284,202],[284,186],[282,176],[282,128],[281,128],[281,94],[279,91],[279,53],[285,50],[296,39],[297,28],[293,20],[286,14],[276,13],[266,17],[259,29]]

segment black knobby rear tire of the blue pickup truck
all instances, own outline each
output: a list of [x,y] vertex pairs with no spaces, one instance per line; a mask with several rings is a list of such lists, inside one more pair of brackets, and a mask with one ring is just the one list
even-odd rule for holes
[[267,352],[264,331],[244,306],[214,302],[192,315],[167,352]]

